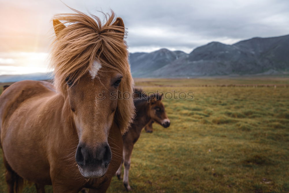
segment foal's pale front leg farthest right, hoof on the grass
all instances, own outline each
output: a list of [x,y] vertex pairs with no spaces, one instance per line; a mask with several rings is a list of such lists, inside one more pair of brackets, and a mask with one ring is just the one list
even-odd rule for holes
[[124,146],[123,148],[124,166],[125,166],[123,174],[123,185],[125,186],[125,189],[127,191],[131,190],[131,187],[129,186],[128,173],[130,168],[130,156],[133,148],[134,148],[133,145],[128,147]]

